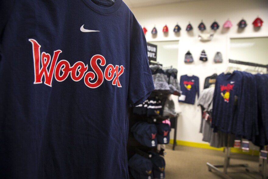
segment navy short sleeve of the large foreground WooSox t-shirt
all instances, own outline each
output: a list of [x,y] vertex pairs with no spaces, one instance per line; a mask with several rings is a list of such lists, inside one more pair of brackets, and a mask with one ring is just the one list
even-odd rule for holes
[[143,30],[133,16],[130,27],[130,67],[128,102],[131,106],[143,103],[154,90]]

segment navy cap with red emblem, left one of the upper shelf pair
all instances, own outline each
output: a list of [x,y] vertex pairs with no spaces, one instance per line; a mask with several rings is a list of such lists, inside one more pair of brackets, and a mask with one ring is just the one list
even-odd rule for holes
[[157,146],[157,128],[155,124],[140,121],[131,127],[131,132],[134,138],[142,145],[147,147]]

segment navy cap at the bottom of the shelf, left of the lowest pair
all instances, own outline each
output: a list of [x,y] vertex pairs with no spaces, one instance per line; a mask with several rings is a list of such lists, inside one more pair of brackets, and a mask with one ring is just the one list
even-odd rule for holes
[[128,162],[130,173],[135,179],[153,179],[153,163],[139,154],[134,154]]

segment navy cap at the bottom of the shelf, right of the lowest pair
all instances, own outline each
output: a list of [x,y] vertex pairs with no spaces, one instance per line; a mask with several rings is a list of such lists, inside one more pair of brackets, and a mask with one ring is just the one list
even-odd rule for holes
[[150,152],[152,157],[150,158],[153,164],[153,177],[154,178],[165,178],[165,159],[154,152]]

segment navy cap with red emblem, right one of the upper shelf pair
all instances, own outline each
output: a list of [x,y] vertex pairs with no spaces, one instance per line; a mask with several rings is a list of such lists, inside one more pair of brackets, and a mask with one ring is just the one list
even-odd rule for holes
[[157,142],[158,144],[168,144],[169,143],[169,132],[171,128],[169,124],[160,123],[156,124],[157,127]]

